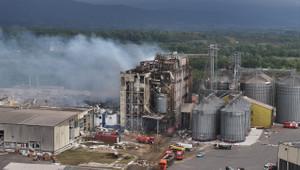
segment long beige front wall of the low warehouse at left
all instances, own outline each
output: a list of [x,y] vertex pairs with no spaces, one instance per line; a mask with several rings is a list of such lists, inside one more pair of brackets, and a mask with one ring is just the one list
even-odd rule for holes
[[4,142],[28,143],[40,142],[42,151],[54,151],[54,129],[47,126],[0,124],[4,131]]

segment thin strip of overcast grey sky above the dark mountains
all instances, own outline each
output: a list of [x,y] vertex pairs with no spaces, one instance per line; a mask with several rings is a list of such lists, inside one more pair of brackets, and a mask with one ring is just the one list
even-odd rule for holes
[[[223,4],[237,3],[244,5],[262,5],[262,6],[299,6],[300,0],[77,0],[82,2],[111,4],[111,5],[129,5],[140,8],[161,9],[161,8],[197,8],[203,4]],[[300,10],[300,9],[299,9]]]

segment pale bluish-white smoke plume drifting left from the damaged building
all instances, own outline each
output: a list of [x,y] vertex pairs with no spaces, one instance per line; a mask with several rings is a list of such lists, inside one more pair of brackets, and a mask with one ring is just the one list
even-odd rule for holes
[[154,57],[153,44],[120,43],[77,35],[6,35],[0,30],[0,87],[63,86],[97,98],[118,98],[120,71]]

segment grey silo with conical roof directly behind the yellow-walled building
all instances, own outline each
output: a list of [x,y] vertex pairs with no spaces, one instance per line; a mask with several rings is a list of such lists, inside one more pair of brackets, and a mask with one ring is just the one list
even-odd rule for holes
[[245,96],[268,105],[273,105],[273,79],[264,73],[255,73],[244,78],[241,89]]

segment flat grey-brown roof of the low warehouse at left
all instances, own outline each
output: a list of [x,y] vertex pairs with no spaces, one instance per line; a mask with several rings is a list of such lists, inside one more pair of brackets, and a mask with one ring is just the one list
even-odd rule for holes
[[55,126],[80,111],[0,108],[0,123]]

